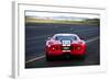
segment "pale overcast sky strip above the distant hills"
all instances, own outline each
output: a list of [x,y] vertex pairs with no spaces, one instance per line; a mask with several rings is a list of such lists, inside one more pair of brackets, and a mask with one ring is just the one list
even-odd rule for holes
[[25,15],[28,16],[73,16],[73,18],[87,18],[87,19],[95,19],[98,18],[99,15],[95,15],[95,14],[76,14],[76,13],[51,13],[51,12],[35,12],[35,11],[26,11]]

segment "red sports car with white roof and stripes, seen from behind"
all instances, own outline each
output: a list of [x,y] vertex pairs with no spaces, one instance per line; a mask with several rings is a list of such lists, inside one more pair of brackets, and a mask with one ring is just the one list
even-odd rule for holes
[[86,55],[86,44],[76,34],[55,34],[46,41],[46,59],[56,56],[81,56]]

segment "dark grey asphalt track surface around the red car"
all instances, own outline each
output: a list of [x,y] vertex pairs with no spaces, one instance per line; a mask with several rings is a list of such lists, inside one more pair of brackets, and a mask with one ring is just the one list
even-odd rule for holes
[[[45,41],[56,33],[74,33],[87,45],[85,59],[46,61]],[[98,25],[25,24],[25,68],[100,65],[100,28]]]

